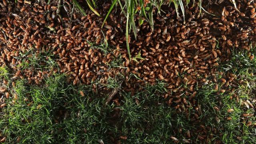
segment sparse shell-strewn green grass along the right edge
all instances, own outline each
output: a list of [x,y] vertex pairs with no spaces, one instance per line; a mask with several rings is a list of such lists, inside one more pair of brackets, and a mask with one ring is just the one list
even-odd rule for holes
[[[205,122],[205,126],[216,128],[219,133],[214,139],[219,139],[225,144],[256,143],[256,113],[253,108],[247,108],[244,104],[255,99],[256,60],[251,59],[254,54],[255,48],[251,48],[250,52],[233,50],[231,60],[218,67],[224,73],[236,74],[237,81],[244,81],[244,84],[238,85],[232,92],[218,93],[222,85],[218,84],[219,89],[215,90],[214,83],[198,89],[198,107],[202,111],[200,120]],[[243,116],[244,114],[251,116]]]

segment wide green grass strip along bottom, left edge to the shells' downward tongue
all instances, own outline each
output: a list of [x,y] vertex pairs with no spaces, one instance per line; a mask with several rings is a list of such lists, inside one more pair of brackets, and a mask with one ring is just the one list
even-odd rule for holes
[[[115,79],[109,79],[108,83],[111,88],[119,86]],[[147,85],[136,96],[122,92],[124,99],[117,106],[105,105],[106,97],[94,95],[90,86],[66,84],[64,75],[49,77],[41,87],[19,80],[14,87],[18,99],[15,102],[8,99],[2,109],[0,132],[6,136],[6,144],[94,144],[99,140],[113,143],[110,136],[125,143],[168,140],[174,115],[172,108],[161,103],[159,94],[166,91],[164,85],[163,82]],[[117,109],[121,120],[112,117]],[[127,140],[120,136],[127,136]]]

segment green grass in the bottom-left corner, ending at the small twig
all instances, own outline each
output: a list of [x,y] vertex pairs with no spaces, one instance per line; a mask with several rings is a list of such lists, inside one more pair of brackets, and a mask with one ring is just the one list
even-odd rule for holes
[[106,138],[109,109],[103,107],[104,98],[82,97],[78,90],[66,85],[64,75],[48,78],[44,87],[16,82],[18,99],[8,99],[0,115],[6,143],[95,143]]

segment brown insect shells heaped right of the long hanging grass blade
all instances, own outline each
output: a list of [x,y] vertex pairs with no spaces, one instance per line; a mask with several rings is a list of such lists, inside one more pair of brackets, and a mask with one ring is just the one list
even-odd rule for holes
[[[165,95],[168,104],[174,104],[179,110],[190,106],[188,100],[191,100],[190,104],[196,104],[193,100],[196,86],[200,88],[202,84],[217,83],[216,66],[229,60],[232,49],[250,49],[256,32],[255,5],[252,2],[238,3],[238,12],[230,3],[230,6],[222,6],[219,15],[216,12],[216,16],[204,16],[207,18],[203,19],[199,17],[198,9],[186,9],[185,24],[166,12],[165,16],[155,18],[154,30],[149,24],[143,24],[137,28],[137,40],[130,36],[130,49],[132,56],[141,52],[144,60],[129,61],[127,53],[122,55],[126,59],[123,66],[127,67],[127,76],[135,74],[140,78],[126,77],[125,89],[134,93],[138,85],[164,80],[168,90],[172,90],[172,95]],[[109,34],[115,34],[112,45],[125,51],[125,47],[118,46],[125,40],[125,18],[110,18],[116,23]],[[234,74],[226,73],[222,77],[222,88],[216,85],[220,92],[237,84]]]

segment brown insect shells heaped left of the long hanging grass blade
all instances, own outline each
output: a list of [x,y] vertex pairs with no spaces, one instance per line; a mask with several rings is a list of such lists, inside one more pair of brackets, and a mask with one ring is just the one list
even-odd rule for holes
[[[88,44],[89,41],[95,44],[102,41],[102,18],[95,14],[78,18],[75,13],[69,17],[62,17],[58,14],[57,5],[51,6],[44,2],[40,5],[18,1],[19,10],[12,10],[11,5],[14,4],[1,3],[4,8],[2,12],[7,12],[8,15],[0,19],[0,39],[1,66],[10,66],[16,71],[13,78],[25,76],[30,83],[39,84],[44,75],[49,76],[52,72],[57,72],[57,69],[41,71],[31,67],[21,70],[20,65],[23,62],[32,62],[33,52],[36,53],[36,58],[42,52],[55,54],[59,71],[70,74],[70,80],[74,84],[90,84],[96,79],[104,83],[108,76],[114,75],[114,71],[108,70],[108,66],[105,65],[111,61],[111,54],[105,56]],[[68,3],[67,6],[69,5]],[[45,56],[40,65],[46,65],[48,60],[49,56]]]

